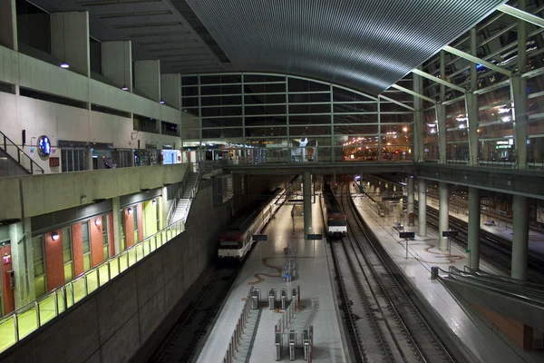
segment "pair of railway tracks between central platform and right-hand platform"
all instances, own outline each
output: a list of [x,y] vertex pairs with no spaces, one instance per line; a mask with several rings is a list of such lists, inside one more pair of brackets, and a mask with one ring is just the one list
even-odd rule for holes
[[349,193],[342,195],[348,237],[330,248],[355,361],[455,361],[374,250]]

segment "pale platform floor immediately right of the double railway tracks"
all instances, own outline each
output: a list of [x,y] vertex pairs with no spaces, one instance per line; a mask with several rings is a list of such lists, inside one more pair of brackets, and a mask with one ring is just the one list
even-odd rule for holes
[[[466,309],[438,280],[431,280],[431,267],[439,266],[448,270],[449,266],[459,269],[467,264],[465,250],[452,243],[452,254],[438,250],[438,235],[427,230],[427,236],[416,235],[415,240],[408,242],[408,258],[406,245],[399,238],[399,231],[394,229],[394,216],[380,217],[370,207],[369,199],[350,186],[355,206],[361,212],[365,223],[380,240],[395,263],[419,289],[422,296],[448,324],[452,332],[466,347],[466,352],[473,361],[481,362],[541,362],[542,356],[531,351],[523,351],[499,329],[481,316]],[[399,208],[402,208],[400,206]],[[403,231],[415,231],[416,226],[404,226]],[[481,260],[481,270],[502,274],[490,264]]]

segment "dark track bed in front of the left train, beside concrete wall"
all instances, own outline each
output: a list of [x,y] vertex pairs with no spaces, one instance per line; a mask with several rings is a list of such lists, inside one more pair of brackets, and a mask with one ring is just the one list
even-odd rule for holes
[[195,358],[200,339],[211,329],[211,322],[219,313],[221,303],[227,297],[228,289],[236,280],[238,271],[239,269],[215,271],[209,285],[183,311],[148,362],[190,362]]

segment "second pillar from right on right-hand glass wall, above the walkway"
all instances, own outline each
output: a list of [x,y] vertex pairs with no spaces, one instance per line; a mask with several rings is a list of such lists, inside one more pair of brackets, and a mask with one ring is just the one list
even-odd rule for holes
[[[476,54],[476,28],[471,29],[471,54]],[[478,72],[476,64],[471,62],[471,90],[465,93],[465,108],[467,111],[467,128],[469,129],[469,165],[478,165]]]

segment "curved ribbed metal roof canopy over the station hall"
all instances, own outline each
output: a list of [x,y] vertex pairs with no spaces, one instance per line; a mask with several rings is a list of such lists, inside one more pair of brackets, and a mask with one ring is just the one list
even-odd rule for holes
[[381,93],[504,0],[34,0],[88,10],[163,73],[294,74]]

